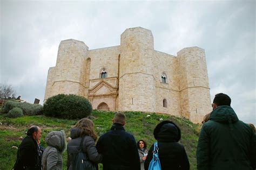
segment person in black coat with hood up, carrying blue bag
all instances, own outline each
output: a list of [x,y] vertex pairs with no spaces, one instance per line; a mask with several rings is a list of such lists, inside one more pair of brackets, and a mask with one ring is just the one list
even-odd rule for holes
[[[179,127],[171,121],[163,121],[154,129],[154,138],[158,141],[158,156],[161,169],[190,169],[190,163],[183,145],[179,144],[181,134]],[[153,157],[154,145],[151,146],[144,163],[149,169]]]

